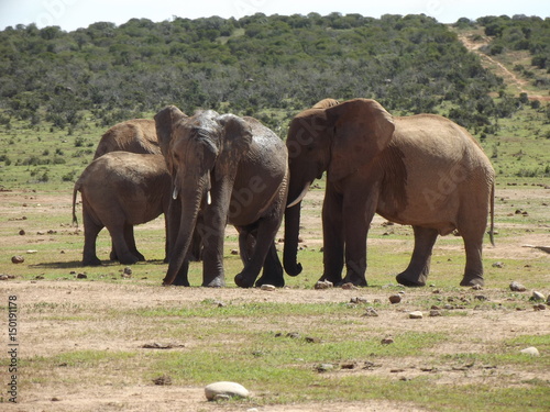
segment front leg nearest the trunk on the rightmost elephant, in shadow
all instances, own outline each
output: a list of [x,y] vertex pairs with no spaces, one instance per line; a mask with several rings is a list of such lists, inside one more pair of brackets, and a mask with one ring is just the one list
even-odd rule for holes
[[342,281],[344,255],[342,201],[342,197],[327,183],[322,205],[323,274],[319,280],[328,280],[334,285]]

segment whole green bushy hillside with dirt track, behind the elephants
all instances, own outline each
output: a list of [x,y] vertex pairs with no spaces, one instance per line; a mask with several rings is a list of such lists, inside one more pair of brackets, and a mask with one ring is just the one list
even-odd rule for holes
[[98,22],[68,33],[8,27],[0,185],[69,185],[109,126],[166,104],[254,115],[284,138],[289,120],[326,97],[447,115],[481,140],[502,176],[548,176],[549,24],[258,13]]

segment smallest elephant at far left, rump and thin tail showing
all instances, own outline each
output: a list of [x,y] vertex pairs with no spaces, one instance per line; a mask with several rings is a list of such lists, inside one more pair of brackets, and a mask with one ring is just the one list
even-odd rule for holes
[[[78,223],[77,192],[82,197],[82,265],[101,265],[96,238],[103,227],[111,235],[112,260],[123,265],[145,260],[135,247],[133,226],[168,212],[170,187],[172,177],[162,155],[111,152],[88,165],[73,190],[74,223]],[[167,243],[165,253],[167,256]]]

